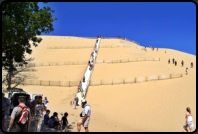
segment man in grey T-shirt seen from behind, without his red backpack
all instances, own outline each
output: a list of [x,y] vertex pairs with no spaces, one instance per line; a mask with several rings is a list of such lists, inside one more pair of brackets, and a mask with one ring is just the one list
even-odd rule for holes
[[[20,95],[18,97],[18,101],[19,101],[19,105],[20,106],[23,106],[25,107],[25,102],[26,102],[26,98],[27,96],[23,96],[23,95]],[[29,108],[27,108],[28,111],[30,111]],[[10,132],[10,128],[12,127],[12,125],[14,124],[13,126],[13,129],[11,132],[28,132],[29,131],[29,128],[30,128],[30,123],[31,123],[31,114],[29,113],[28,114],[28,123],[27,125],[26,124],[21,124],[21,125],[18,125],[15,123],[15,118],[20,114],[20,112],[22,111],[22,108],[19,107],[19,106],[16,106],[13,111],[12,111],[12,114],[11,114],[11,119],[10,119],[10,123],[9,123],[9,127],[7,129],[8,132]]]

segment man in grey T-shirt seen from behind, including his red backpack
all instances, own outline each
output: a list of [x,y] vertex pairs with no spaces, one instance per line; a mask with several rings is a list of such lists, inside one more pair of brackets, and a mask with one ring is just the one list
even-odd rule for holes
[[[10,132],[10,129],[13,124],[14,124],[14,126],[13,126],[13,129],[11,132],[28,132],[29,131],[30,124],[31,124],[31,114],[29,114],[30,108],[28,108],[25,105],[26,99],[27,99],[27,96],[20,95],[18,97],[19,105],[16,106],[12,111],[11,119],[10,119],[10,123],[9,123],[9,127],[7,129],[7,132]],[[22,108],[25,112],[27,112],[26,113],[27,116],[25,116],[25,117],[24,117],[24,114],[20,114],[22,112]],[[20,117],[23,117],[22,120],[19,119]],[[21,121],[21,122],[18,122],[18,121]],[[23,124],[23,123],[25,123],[25,124]]]

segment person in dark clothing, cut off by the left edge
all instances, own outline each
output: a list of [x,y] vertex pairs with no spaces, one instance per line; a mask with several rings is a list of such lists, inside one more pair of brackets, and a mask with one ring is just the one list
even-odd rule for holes
[[5,94],[2,93],[2,129],[6,132],[8,128],[9,108],[11,104],[10,100],[4,96]]

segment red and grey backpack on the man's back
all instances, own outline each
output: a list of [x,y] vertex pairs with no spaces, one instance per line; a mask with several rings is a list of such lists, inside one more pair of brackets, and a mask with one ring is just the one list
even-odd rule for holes
[[21,112],[19,113],[18,116],[15,117],[15,123],[18,125],[25,125],[28,123],[28,114],[29,114],[29,110],[28,110],[28,106],[21,106],[18,105],[18,107],[22,108]]

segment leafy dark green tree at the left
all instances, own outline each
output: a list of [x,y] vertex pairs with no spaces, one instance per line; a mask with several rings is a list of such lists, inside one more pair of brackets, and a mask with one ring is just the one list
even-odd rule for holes
[[[47,2],[44,2],[47,3]],[[2,3],[2,69],[7,70],[8,89],[11,88],[12,72],[17,71],[14,63],[20,66],[31,59],[25,58],[25,53],[31,54],[31,44],[37,47],[42,38],[41,33],[54,30],[54,10],[50,7],[39,9],[38,2],[3,2]]]

